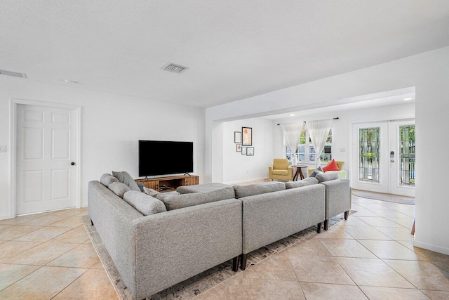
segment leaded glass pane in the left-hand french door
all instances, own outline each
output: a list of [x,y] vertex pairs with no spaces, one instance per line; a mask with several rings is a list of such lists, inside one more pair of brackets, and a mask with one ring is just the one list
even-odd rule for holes
[[359,131],[358,180],[380,183],[380,127]]

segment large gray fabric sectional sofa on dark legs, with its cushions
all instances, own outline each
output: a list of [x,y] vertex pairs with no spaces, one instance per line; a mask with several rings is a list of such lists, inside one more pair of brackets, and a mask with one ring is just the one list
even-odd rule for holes
[[350,206],[349,182],[339,179],[212,183],[147,195],[124,177],[91,181],[88,212],[134,299],[231,259],[244,270],[249,252],[317,224],[320,232],[326,218]]

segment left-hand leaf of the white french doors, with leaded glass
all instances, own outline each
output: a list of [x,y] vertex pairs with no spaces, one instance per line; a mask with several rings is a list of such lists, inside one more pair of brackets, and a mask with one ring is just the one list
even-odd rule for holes
[[389,193],[388,123],[354,124],[352,141],[352,187]]

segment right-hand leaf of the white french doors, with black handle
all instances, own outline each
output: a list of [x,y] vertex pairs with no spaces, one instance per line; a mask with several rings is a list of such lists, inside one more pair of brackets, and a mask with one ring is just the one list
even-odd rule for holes
[[415,197],[415,121],[389,123],[390,192]]

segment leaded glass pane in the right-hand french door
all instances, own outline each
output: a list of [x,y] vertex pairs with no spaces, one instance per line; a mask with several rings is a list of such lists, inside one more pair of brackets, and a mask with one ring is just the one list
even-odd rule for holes
[[415,125],[399,126],[399,185],[415,186]]

